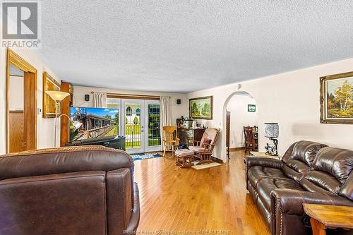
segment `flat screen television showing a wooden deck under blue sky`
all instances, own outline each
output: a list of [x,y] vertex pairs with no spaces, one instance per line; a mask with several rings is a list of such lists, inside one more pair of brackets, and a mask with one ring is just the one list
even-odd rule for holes
[[119,109],[70,107],[70,142],[119,134]]

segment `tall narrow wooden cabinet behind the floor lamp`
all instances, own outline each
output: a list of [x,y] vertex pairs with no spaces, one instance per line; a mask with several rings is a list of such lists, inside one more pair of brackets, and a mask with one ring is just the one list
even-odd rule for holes
[[[73,100],[73,88],[70,83],[61,82],[61,91],[68,92],[70,95],[61,102],[61,114],[70,116],[70,107]],[[70,120],[67,116],[61,116],[60,120],[60,146],[63,147],[68,143]]]

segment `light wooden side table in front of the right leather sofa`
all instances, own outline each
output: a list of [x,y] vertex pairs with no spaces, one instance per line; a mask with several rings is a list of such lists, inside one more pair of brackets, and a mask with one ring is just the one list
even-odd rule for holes
[[325,235],[325,229],[353,229],[353,207],[307,203],[303,207],[310,216],[313,235]]

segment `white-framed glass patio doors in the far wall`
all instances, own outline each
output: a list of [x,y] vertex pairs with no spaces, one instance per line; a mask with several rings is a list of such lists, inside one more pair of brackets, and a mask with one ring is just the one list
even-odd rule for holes
[[119,135],[124,135],[126,152],[162,150],[160,101],[108,99],[108,107],[119,108]]

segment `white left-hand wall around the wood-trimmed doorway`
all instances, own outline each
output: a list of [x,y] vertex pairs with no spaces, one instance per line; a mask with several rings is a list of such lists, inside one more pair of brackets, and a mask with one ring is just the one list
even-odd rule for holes
[[[55,74],[30,49],[13,49],[23,59],[37,68],[37,107],[42,109],[43,84],[42,73],[47,71],[53,78]],[[6,49],[0,48],[0,155],[6,152]],[[59,79],[58,82],[60,83]],[[59,133],[58,133],[59,136]],[[59,145],[59,138],[56,138]],[[43,119],[42,112],[37,112],[37,148],[54,146],[54,119]]]

